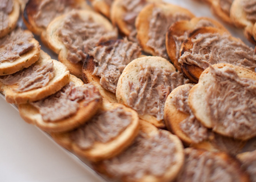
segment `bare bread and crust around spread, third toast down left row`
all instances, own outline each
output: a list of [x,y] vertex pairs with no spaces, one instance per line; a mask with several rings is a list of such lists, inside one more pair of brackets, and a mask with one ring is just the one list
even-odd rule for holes
[[49,57],[49,55],[41,50],[39,60],[34,63],[34,65],[39,66],[51,62],[54,64],[54,77],[48,82],[48,84],[42,88],[36,88],[24,92],[17,91],[17,88],[19,87],[18,84],[4,84],[3,93],[8,103],[23,104],[43,99],[59,91],[69,82],[70,74],[67,67],[54,59],[49,59]]

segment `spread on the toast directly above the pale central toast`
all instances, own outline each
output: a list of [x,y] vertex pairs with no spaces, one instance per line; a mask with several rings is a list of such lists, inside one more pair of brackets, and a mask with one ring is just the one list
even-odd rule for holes
[[170,25],[180,20],[190,20],[190,17],[181,13],[166,16],[161,8],[153,9],[149,22],[149,40],[146,45],[151,47],[157,56],[169,59],[165,47],[165,34]]

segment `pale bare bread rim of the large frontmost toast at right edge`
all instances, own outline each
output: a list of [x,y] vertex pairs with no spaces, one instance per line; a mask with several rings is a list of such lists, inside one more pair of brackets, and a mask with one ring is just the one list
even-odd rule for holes
[[[218,63],[215,65],[212,65],[212,67],[216,69],[224,69],[225,67],[230,67],[234,69],[237,73],[237,75],[240,78],[250,78],[253,80],[256,80],[256,73],[254,71],[245,69],[240,66],[234,66],[228,63]],[[208,110],[206,107],[206,102],[205,102],[205,96],[206,96],[206,90],[207,90],[207,85],[213,82],[211,80],[211,77],[208,76],[210,68],[205,69],[202,74],[200,75],[198,84],[193,86],[191,90],[189,91],[189,97],[188,97],[188,102],[189,102],[189,107],[191,108],[193,114],[196,116],[196,118],[207,128],[213,128],[214,127],[214,132],[219,133],[220,135],[227,136],[227,137],[234,137],[228,135],[224,128],[221,125],[214,125],[213,121],[211,121],[210,117],[208,116]],[[239,137],[237,139],[239,140],[248,140],[249,138],[253,137],[251,135],[255,134],[248,134],[247,136]]]

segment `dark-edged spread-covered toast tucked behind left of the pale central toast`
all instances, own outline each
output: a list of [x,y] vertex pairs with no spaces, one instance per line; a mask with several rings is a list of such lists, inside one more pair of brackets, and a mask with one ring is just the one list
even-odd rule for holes
[[140,47],[125,38],[110,40],[95,46],[83,63],[83,81],[94,83],[103,98],[117,102],[115,91],[125,66],[141,55]]

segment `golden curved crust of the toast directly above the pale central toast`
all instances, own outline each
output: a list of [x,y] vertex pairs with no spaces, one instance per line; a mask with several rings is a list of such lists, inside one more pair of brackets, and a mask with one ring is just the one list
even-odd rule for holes
[[166,15],[166,17],[171,17],[175,13],[182,13],[189,16],[190,18],[194,17],[194,15],[190,11],[188,11],[188,9],[181,8],[173,4],[154,3],[146,5],[136,18],[135,26],[137,29],[137,39],[139,45],[141,45],[143,51],[151,55],[157,55],[152,47],[147,46],[147,41],[149,40],[149,22],[152,17],[152,12],[154,8],[161,8],[162,12]]

